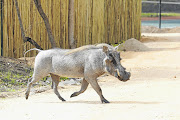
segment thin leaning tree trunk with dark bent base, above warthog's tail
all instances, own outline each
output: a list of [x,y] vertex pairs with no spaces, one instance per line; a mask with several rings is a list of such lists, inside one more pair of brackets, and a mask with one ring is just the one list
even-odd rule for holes
[[19,11],[19,6],[18,6],[18,2],[17,0],[14,0],[15,2],[15,6],[16,6],[16,12],[17,12],[17,15],[18,15],[18,19],[19,19],[19,24],[20,24],[20,28],[21,28],[21,35],[22,35],[22,38],[23,38],[23,42],[30,42],[32,45],[34,45],[36,48],[38,49],[41,49],[41,46],[39,46],[34,40],[32,40],[31,38],[29,37],[25,37],[25,32],[24,32],[24,27],[23,27],[23,24],[22,24],[22,19],[21,19],[21,15],[20,15],[20,11]]

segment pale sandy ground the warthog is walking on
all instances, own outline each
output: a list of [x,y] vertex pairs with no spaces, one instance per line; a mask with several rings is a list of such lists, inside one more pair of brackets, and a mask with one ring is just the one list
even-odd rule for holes
[[[150,51],[122,52],[122,64],[131,80],[114,77],[99,80],[110,104],[101,104],[89,86],[84,94],[69,96],[80,86],[59,88],[67,100],[58,100],[52,90],[24,97],[0,99],[2,120],[180,120],[180,35],[145,34]],[[157,39],[158,38],[158,39]]]

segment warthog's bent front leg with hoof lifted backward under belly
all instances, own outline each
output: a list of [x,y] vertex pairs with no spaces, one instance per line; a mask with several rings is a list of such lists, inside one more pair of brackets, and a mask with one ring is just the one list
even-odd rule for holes
[[83,78],[82,84],[81,84],[81,90],[78,92],[74,92],[71,97],[75,97],[78,96],[79,94],[83,93],[87,87],[88,87],[89,83]]

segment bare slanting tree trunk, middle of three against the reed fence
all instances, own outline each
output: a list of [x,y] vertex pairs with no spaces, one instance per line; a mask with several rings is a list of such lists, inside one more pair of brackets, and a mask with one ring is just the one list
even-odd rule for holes
[[46,14],[44,13],[44,11],[42,9],[41,2],[40,2],[40,0],[34,0],[34,3],[36,5],[36,8],[37,8],[39,14],[41,15],[41,17],[44,20],[44,23],[45,23],[45,26],[46,26],[46,30],[47,30],[47,33],[48,33],[48,37],[49,37],[49,40],[51,42],[51,46],[52,46],[52,48],[55,48],[56,47],[56,43],[55,43],[55,40],[54,40],[54,36],[52,34],[51,26],[49,24],[49,20],[48,20]]

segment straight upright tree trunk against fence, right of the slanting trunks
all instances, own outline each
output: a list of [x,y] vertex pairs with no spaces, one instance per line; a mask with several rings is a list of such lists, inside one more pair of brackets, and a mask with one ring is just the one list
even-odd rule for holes
[[69,0],[68,12],[68,40],[70,48],[76,48],[74,40],[74,0]]

